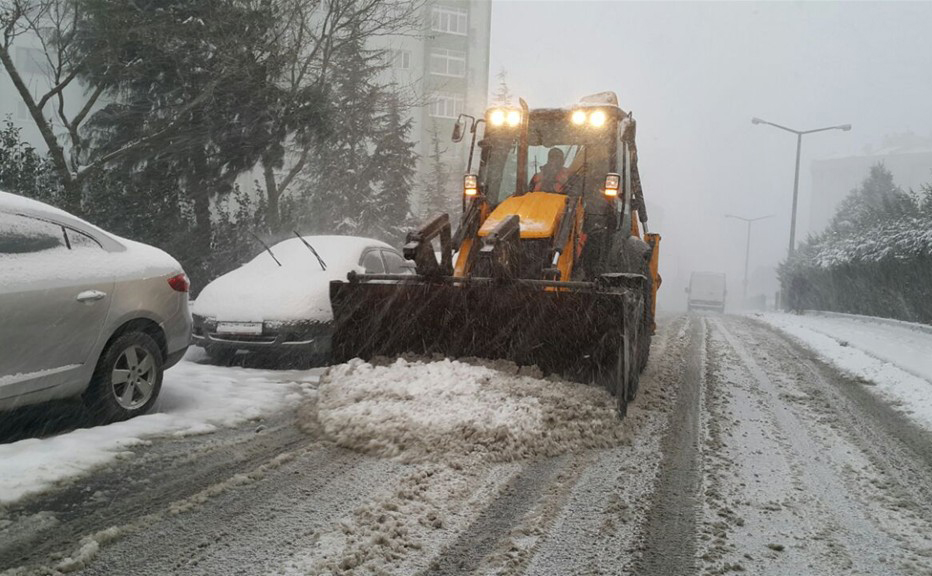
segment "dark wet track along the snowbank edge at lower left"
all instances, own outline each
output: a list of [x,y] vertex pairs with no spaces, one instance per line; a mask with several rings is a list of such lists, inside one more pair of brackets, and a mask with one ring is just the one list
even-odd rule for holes
[[[133,448],[137,457],[8,506],[2,512],[12,520],[0,530],[0,568],[70,554],[85,536],[132,522],[311,442],[293,419],[291,412],[269,419],[262,433],[253,422],[209,436],[152,441]],[[54,521],[29,520],[37,515]]]

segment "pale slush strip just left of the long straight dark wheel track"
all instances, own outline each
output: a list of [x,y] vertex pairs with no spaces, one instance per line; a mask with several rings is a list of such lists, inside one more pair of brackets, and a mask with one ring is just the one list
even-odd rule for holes
[[521,573],[631,573],[645,547],[643,530],[660,470],[661,440],[689,344],[687,325],[685,315],[663,319],[638,397],[625,418],[630,443],[592,454]]

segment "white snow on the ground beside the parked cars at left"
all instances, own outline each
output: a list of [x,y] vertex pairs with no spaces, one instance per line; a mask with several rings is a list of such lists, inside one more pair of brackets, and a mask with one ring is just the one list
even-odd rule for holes
[[198,351],[165,372],[154,409],[107,426],[0,444],[0,504],[80,476],[131,454],[153,436],[203,434],[273,412],[303,399],[302,383],[321,370],[272,371],[198,364]]

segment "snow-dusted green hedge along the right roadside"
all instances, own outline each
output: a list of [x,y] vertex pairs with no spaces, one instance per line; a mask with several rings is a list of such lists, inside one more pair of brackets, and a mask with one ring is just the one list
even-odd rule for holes
[[932,323],[932,187],[904,192],[874,166],[779,272],[791,308]]

